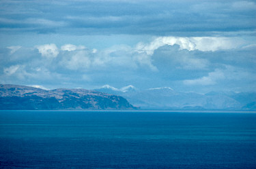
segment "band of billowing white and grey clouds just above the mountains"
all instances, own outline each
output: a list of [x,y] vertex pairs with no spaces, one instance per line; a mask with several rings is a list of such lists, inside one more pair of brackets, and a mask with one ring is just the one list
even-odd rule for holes
[[186,92],[255,90],[255,45],[231,41],[233,37],[156,37],[134,47],[114,45],[103,50],[70,43],[2,48],[0,83],[45,88],[132,84]]

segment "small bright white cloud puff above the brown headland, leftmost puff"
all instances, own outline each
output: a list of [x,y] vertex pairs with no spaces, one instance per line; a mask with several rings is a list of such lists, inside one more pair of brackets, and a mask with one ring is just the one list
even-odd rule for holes
[[59,54],[57,46],[53,43],[38,45],[35,48],[37,48],[40,54],[46,58],[55,58]]

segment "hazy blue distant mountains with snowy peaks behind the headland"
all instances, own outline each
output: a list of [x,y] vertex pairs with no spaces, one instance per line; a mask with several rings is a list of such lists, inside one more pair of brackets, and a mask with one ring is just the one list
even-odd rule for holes
[[195,92],[176,92],[170,87],[150,88],[124,91],[114,87],[95,89],[100,92],[117,94],[126,98],[132,105],[141,109],[227,109],[227,110],[255,110],[255,92],[209,92],[198,94]]

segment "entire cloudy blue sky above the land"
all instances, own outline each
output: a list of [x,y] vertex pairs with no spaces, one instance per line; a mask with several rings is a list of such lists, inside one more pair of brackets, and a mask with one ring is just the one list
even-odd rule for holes
[[256,92],[256,1],[0,0],[0,83]]

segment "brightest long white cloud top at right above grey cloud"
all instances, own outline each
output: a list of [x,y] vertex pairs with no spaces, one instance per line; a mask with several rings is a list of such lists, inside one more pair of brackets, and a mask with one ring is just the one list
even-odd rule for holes
[[149,44],[138,43],[136,50],[154,54],[154,50],[164,45],[180,45],[180,50],[216,51],[237,48],[242,42],[228,37],[158,37]]

